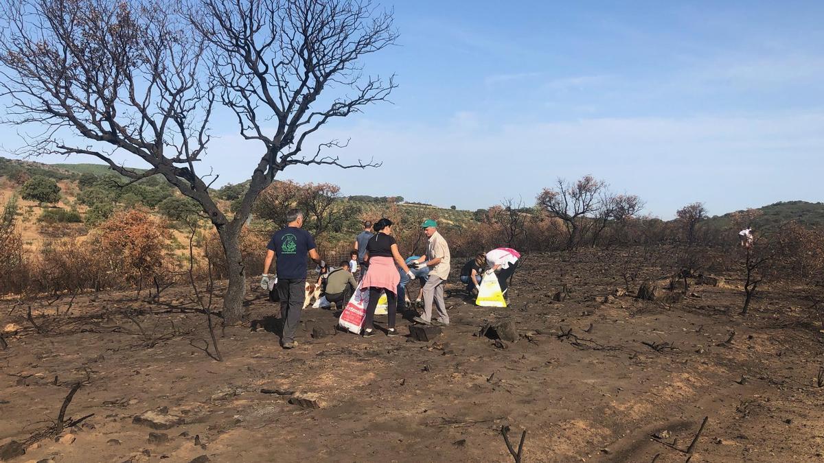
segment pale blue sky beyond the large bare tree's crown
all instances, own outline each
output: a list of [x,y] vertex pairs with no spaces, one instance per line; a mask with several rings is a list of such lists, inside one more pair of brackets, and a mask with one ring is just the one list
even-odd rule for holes
[[[664,218],[694,201],[720,214],[824,200],[822,2],[416,1],[394,11],[398,46],[366,61],[367,72],[396,72],[393,104],[314,140],[350,138],[342,160],[383,166],[295,166],[282,178],[475,209],[534,203],[556,177],[592,174]],[[259,148],[231,119],[216,122],[208,162],[221,181],[246,180]]]

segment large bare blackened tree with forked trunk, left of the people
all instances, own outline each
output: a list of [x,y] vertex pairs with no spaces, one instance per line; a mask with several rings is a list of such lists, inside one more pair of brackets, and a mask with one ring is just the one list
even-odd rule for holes
[[[7,122],[41,129],[21,153],[96,157],[131,182],[162,175],[199,203],[227,259],[228,322],[243,316],[239,237],[257,194],[296,164],[376,165],[322,154],[344,146],[334,140],[302,155],[307,137],[329,119],[386,100],[396,88],[393,79],[361,74],[361,58],[397,36],[391,13],[369,2],[194,0],[181,8],[164,0],[21,0],[0,14]],[[215,101],[236,115],[244,138],[260,142],[231,218],[209,190],[218,176],[196,167]],[[150,168],[126,168],[121,156]]]

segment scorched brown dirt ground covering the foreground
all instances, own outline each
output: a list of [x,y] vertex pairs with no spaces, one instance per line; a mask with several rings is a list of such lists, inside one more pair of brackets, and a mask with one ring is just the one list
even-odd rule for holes
[[[619,286],[603,260],[531,255],[512,306],[456,292],[452,325],[430,342],[335,333],[334,311],[308,309],[300,345],[283,350],[278,307],[253,289],[251,318],[266,330],[228,327],[224,362],[204,353],[189,288],[152,304],[82,295],[68,315],[69,297],[34,302],[42,333],[6,301],[0,328],[19,330],[0,350],[0,445],[48,428],[80,382],[65,417],[93,416],[12,461],[513,461],[504,425],[514,447],[527,431],[523,461],[686,461],[705,417],[693,462],[822,460],[824,334],[792,323],[803,301],[765,287],[738,316],[730,275],[673,304],[597,301]],[[569,298],[552,301],[564,283]],[[477,335],[506,320],[516,342]],[[312,339],[314,327],[329,335]],[[148,411],[168,428],[135,420]]]

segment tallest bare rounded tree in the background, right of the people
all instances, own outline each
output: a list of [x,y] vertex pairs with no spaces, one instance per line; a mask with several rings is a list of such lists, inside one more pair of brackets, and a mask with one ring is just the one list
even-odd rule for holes
[[592,213],[600,207],[599,195],[606,183],[592,175],[584,175],[574,184],[558,179],[555,189],[545,188],[538,195],[537,205],[550,217],[558,217],[567,229],[567,250],[580,246],[592,227]]

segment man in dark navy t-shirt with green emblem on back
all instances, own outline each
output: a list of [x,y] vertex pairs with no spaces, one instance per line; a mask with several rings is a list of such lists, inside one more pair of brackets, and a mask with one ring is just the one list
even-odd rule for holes
[[326,263],[317,254],[315,238],[303,230],[303,213],[291,209],[286,214],[288,222],[285,228],[272,235],[266,246],[266,260],[263,265],[263,278],[260,287],[269,288],[269,267],[277,256],[278,295],[280,297],[280,319],[283,320],[283,348],[293,348],[295,331],[301,320],[303,300],[306,298],[307,254],[322,267]]

